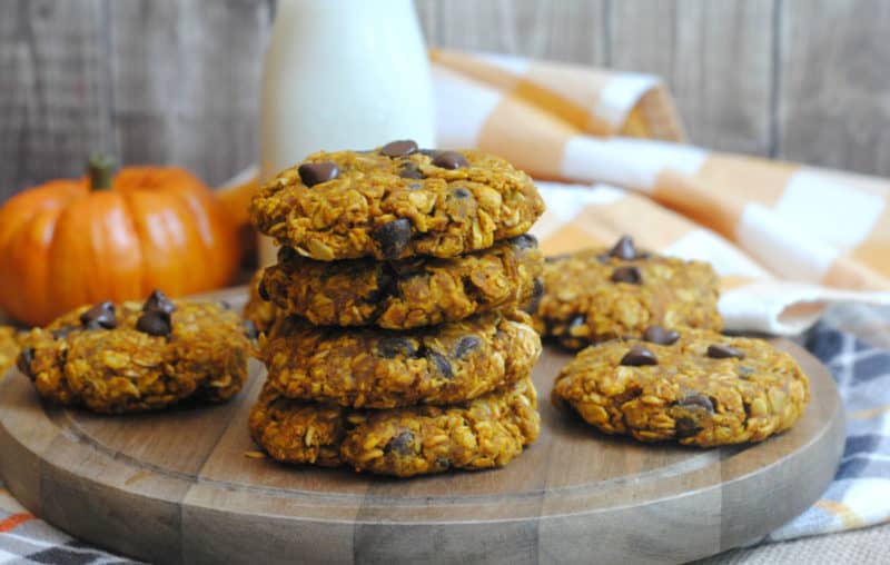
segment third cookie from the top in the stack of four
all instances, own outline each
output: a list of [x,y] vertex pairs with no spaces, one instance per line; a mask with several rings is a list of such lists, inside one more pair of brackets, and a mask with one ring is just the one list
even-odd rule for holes
[[454,404],[526,378],[541,338],[521,311],[413,330],[316,327],[289,317],[259,351],[284,396],[355,408]]

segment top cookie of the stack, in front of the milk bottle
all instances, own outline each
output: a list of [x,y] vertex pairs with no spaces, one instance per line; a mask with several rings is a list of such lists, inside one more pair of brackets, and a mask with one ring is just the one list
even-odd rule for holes
[[543,211],[532,179],[507,161],[413,141],[314,153],[250,202],[259,231],[323,261],[455,257],[524,234]]

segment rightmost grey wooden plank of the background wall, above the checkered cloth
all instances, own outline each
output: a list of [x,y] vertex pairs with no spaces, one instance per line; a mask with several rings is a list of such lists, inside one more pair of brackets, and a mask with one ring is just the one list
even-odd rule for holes
[[890,176],[890,2],[781,6],[779,155]]

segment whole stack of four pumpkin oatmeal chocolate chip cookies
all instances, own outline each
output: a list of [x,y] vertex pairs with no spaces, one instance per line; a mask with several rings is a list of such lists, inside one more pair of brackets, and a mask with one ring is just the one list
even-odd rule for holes
[[501,466],[537,436],[531,178],[474,150],[318,152],[254,198],[281,246],[250,415],[271,457],[412,476]]

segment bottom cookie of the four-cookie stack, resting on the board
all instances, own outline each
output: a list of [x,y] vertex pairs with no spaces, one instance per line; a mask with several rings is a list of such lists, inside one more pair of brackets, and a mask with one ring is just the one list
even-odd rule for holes
[[506,465],[537,437],[530,379],[452,406],[358,410],[286,398],[269,384],[254,406],[254,440],[285,463],[408,477]]

